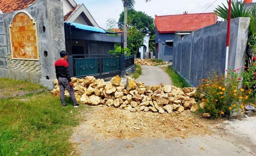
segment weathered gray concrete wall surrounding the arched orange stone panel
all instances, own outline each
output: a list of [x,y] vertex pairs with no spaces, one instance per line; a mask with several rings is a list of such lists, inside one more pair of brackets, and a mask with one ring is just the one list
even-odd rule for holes
[[[9,26],[20,11],[29,14],[37,23],[39,60],[14,60],[11,57]],[[41,79],[41,82],[48,81],[43,85],[52,88],[56,79],[54,62],[59,59],[59,52],[65,50],[63,22],[63,4],[59,0],[36,0],[26,9],[0,14],[0,76],[6,77],[8,74],[11,79],[26,79],[35,83]],[[47,57],[44,56],[45,51]],[[35,69],[31,71],[31,68]],[[49,83],[52,85],[49,86]]]

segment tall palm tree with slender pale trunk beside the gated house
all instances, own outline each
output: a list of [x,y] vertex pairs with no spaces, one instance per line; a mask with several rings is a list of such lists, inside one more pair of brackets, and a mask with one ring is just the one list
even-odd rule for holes
[[[145,0],[146,2],[151,1],[151,0]],[[123,28],[123,33],[124,33],[124,48],[127,47],[127,16],[128,16],[128,9],[133,9],[135,0],[122,0],[123,5],[124,5],[124,28]]]

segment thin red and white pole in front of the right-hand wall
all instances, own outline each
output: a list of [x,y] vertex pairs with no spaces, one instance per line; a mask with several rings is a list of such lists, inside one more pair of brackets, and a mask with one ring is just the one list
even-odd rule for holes
[[227,46],[226,46],[226,62],[225,62],[225,76],[227,76],[227,68],[229,64],[229,36],[230,36],[230,19],[231,19],[231,1],[229,0],[229,16],[227,19]]

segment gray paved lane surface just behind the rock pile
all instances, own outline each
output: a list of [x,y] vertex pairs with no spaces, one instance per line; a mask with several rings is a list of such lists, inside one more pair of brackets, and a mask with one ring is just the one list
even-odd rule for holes
[[159,83],[172,85],[170,76],[157,66],[142,65],[142,75],[136,81],[144,82],[145,85],[158,85]]

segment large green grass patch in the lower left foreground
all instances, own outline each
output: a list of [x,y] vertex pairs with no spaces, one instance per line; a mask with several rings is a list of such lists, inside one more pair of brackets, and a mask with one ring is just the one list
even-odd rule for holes
[[69,155],[69,137],[79,123],[76,115],[85,108],[74,109],[71,103],[67,100],[63,108],[49,92],[0,99],[0,155]]

